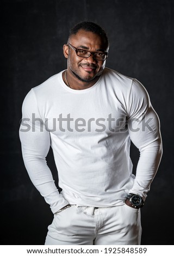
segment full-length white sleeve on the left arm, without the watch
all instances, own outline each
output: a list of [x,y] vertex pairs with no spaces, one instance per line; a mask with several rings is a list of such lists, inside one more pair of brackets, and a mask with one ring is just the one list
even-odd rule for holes
[[23,161],[29,177],[55,213],[69,203],[59,193],[47,166],[50,136],[39,114],[33,89],[23,101],[19,135]]

